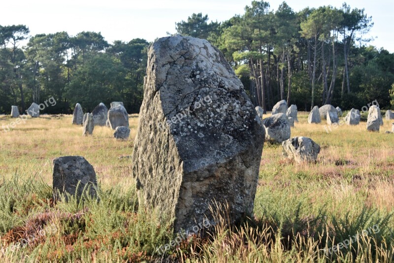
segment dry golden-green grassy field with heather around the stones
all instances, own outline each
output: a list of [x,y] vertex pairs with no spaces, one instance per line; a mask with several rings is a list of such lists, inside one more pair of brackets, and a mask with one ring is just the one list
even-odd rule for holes
[[[394,261],[394,134],[384,133],[392,122],[384,120],[380,132],[367,132],[362,122],[327,133],[307,116],[298,113],[292,137],[321,146],[316,164],[286,161],[281,145],[264,144],[255,218],[229,226],[225,209],[218,211],[208,230],[215,235],[191,236],[164,255],[156,248],[174,238],[170,223],[138,207],[131,159],[120,158],[132,154],[138,115],[130,116],[126,142],[105,127],[82,137],[70,115],[1,129],[0,261]],[[12,121],[0,116],[0,128]],[[54,202],[52,160],[66,155],[94,166],[99,202]]]

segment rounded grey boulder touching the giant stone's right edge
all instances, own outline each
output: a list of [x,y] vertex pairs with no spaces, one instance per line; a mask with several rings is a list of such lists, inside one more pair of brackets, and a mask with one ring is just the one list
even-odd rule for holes
[[289,119],[285,114],[272,115],[264,119],[262,123],[265,129],[265,140],[282,143],[290,138]]

